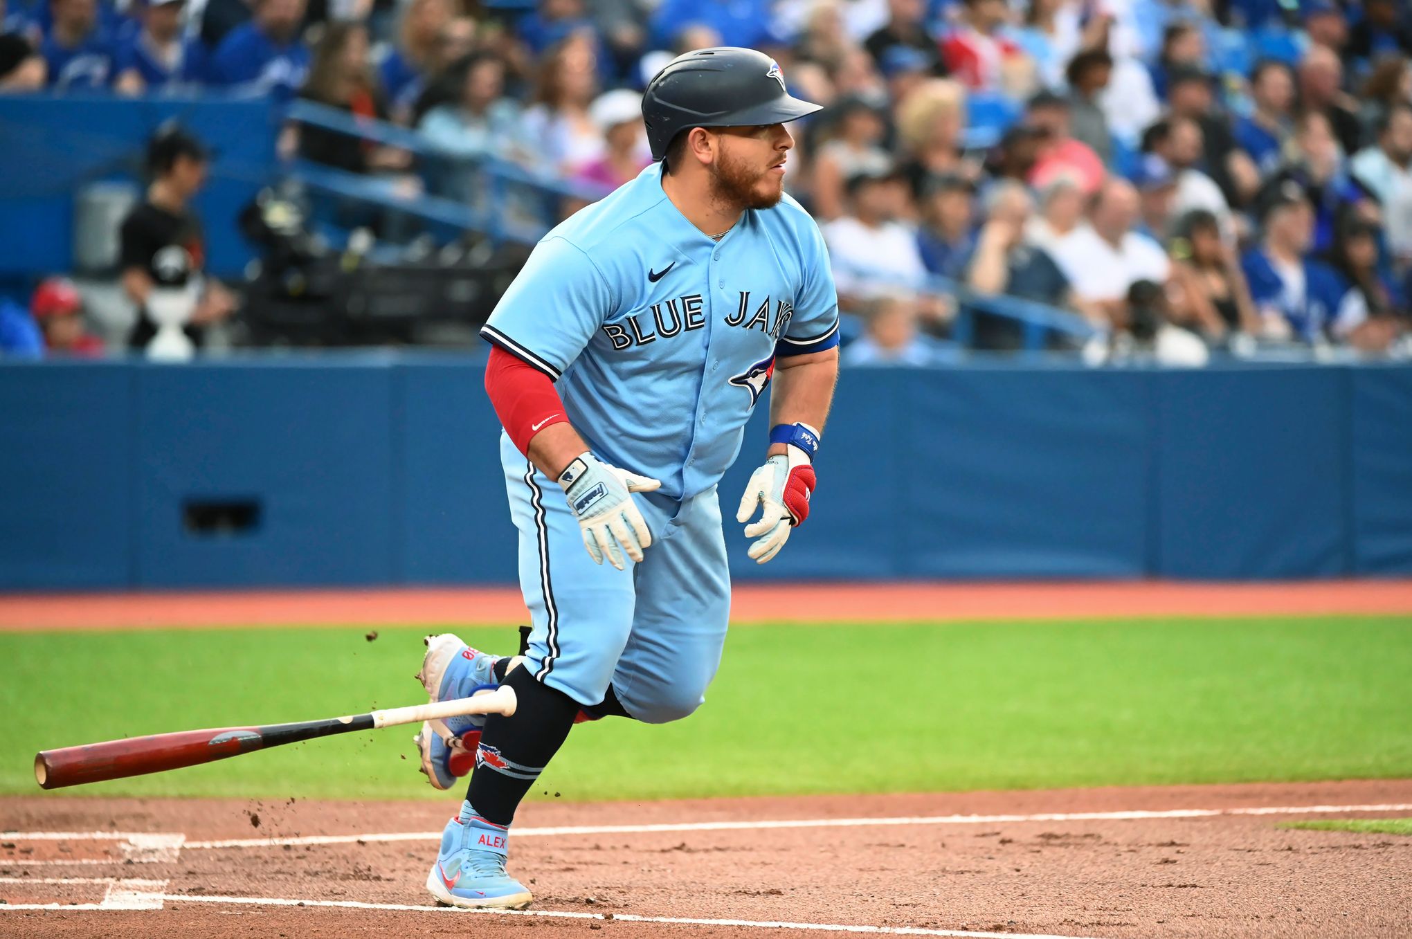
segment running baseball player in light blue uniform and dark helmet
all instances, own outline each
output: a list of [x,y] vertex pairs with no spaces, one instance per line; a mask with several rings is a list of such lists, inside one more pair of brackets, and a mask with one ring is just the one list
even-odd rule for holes
[[473,764],[426,880],[443,904],[530,905],[505,873],[510,823],[578,720],[665,723],[705,700],[730,610],[716,483],[771,381],[765,462],[736,511],[750,556],[809,514],[839,308],[782,182],[785,124],[816,110],[761,52],[674,59],[642,99],[657,162],[549,232],[481,330],[534,628],[515,658],[426,640],[432,700],[503,682],[520,702],[417,737],[438,788]]

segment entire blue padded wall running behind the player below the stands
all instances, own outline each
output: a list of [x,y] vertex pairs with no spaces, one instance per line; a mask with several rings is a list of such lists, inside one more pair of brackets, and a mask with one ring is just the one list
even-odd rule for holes
[[[514,579],[465,359],[13,364],[0,401],[0,589]],[[727,525],[737,578],[1406,575],[1412,367],[846,370],[819,474],[770,565]]]

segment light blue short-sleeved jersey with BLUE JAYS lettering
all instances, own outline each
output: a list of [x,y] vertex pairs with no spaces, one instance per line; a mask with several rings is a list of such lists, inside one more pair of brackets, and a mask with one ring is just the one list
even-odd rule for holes
[[839,342],[823,236],[788,195],[719,243],[662,192],[662,164],[546,234],[481,336],[556,383],[600,459],[690,498],[740,452],[775,356]]

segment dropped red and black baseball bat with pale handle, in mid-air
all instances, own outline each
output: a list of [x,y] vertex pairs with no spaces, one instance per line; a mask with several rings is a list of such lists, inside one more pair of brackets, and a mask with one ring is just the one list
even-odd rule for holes
[[123,779],[148,772],[164,772],[181,767],[195,767],[212,760],[239,757],[256,750],[280,747],[287,743],[346,734],[353,730],[395,727],[424,720],[445,720],[466,714],[515,713],[515,690],[508,686],[493,692],[442,700],[431,705],[390,707],[367,714],[302,720],[291,724],[264,727],[216,727],[210,730],[178,730],[169,734],[127,737],[79,747],[42,750],[34,757],[34,778],[44,789],[68,785]]

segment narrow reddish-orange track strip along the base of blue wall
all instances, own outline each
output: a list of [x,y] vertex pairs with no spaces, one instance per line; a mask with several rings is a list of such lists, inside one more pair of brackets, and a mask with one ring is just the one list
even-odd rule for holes
[[[1412,580],[736,585],[733,624],[1412,613]],[[500,624],[515,587],[0,596],[0,630]]]

